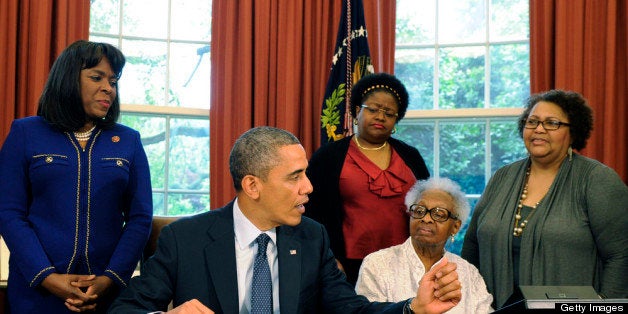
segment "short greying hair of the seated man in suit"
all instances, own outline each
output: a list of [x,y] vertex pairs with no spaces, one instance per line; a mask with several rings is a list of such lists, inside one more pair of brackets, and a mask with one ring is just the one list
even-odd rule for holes
[[252,128],[236,140],[229,154],[229,171],[236,191],[242,190],[242,179],[254,175],[266,180],[279,162],[279,148],[301,144],[292,133],[270,127]]

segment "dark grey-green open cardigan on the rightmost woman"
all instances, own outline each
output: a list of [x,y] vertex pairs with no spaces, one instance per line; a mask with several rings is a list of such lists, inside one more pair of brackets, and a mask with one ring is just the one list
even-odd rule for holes
[[[496,308],[513,292],[514,214],[529,162],[493,175],[462,248]],[[565,158],[521,237],[519,282],[587,285],[606,297],[628,297],[628,187],[615,171],[577,154]]]

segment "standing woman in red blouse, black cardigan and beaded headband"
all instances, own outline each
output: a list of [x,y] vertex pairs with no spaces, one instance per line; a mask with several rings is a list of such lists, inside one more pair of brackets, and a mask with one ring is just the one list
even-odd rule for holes
[[331,248],[355,284],[362,259],[408,238],[404,196],[429,177],[419,151],[391,137],[408,108],[393,75],[371,74],[351,90],[355,135],[319,148],[307,175],[314,186],[305,215],[327,228]]

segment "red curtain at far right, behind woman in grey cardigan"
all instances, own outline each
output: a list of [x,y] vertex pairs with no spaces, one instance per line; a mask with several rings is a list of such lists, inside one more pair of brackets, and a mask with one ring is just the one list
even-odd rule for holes
[[594,111],[582,153],[628,182],[628,2],[531,0],[530,86],[581,93]]

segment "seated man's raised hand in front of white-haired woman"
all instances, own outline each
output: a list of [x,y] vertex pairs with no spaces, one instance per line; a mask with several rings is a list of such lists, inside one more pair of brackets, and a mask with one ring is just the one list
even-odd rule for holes
[[458,281],[456,267],[455,263],[449,263],[444,257],[438,265],[423,275],[417,296],[411,303],[415,314],[443,313],[460,302],[462,285]]

